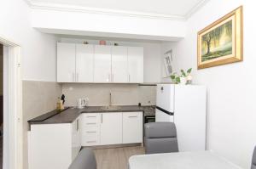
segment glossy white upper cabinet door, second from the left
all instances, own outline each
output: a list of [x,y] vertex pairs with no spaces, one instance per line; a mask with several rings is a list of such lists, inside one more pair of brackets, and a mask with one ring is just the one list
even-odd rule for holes
[[76,82],[93,82],[93,45],[76,45]]

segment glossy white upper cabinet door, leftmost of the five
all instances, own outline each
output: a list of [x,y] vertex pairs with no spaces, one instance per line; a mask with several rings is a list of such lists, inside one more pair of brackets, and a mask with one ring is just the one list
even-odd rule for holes
[[57,82],[75,82],[75,44],[57,43]]

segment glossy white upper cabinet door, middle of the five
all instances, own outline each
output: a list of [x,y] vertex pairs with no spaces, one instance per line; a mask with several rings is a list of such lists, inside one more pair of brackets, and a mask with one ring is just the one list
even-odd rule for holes
[[94,82],[111,82],[111,47],[95,45]]

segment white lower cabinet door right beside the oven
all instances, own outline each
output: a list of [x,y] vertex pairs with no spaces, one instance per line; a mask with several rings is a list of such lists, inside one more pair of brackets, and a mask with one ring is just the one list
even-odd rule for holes
[[143,143],[143,112],[123,113],[123,144]]

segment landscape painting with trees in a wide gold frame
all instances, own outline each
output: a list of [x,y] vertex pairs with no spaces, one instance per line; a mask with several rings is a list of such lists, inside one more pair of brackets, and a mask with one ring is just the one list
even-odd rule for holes
[[198,32],[197,68],[242,60],[242,6]]

